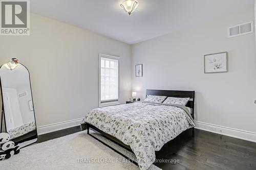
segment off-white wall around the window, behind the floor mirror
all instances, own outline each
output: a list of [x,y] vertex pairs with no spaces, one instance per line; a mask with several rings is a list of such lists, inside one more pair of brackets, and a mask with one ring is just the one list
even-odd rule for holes
[[0,63],[15,57],[29,69],[38,127],[98,107],[99,53],[120,56],[120,101],[130,98],[131,45],[36,14],[30,24],[30,36],[0,36]]

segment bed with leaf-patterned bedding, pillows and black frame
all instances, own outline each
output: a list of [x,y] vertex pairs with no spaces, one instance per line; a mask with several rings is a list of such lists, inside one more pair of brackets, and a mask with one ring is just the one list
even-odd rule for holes
[[[195,127],[193,120],[195,91],[146,90],[146,95],[189,98],[190,100],[186,106],[136,102],[97,108],[90,111],[81,124],[81,129],[87,129],[88,134],[91,128],[133,152],[137,160],[131,161],[138,164],[142,170],[154,163],[155,152],[159,151],[166,142],[174,139],[183,131]],[[110,148],[127,158],[114,148]]]

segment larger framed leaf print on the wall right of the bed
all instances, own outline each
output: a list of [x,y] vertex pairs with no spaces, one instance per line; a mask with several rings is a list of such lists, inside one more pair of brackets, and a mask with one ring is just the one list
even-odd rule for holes
[[205,55],[204,73],[227,72],[227,56],[227,52]]

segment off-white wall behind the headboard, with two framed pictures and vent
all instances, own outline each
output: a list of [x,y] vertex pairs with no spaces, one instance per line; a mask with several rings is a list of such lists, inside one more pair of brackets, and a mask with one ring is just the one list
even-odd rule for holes
[[[228,27],[252,20],[254,8],[132,45],[132,90],[143,99],[146,89],[195,90],[198,126],[226,127],[231,136],[237,134],[230,130],[249,131],[256,141],[255,37],[227,38]],[[204,74],[203,56],[226,51],[229,71]],[[142,78],[135,77],[135,64],[143,64]]]

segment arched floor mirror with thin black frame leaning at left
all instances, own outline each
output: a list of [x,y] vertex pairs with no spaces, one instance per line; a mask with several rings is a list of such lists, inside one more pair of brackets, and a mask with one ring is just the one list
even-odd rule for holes
[[35,113],[27,67],[13,58],[0,67],[1,132],[7,132],[10,140],[20,148],[37,141]]

